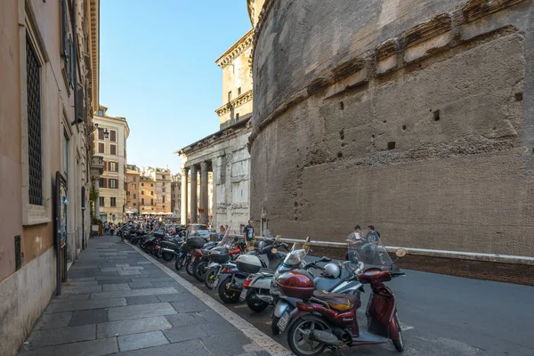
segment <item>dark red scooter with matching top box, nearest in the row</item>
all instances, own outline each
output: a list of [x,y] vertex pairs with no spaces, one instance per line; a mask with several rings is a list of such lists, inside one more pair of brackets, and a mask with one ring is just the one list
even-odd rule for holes
[[[301,299],[287,323],[287,342],[295,354],[314,356],[327,347],[336,351],[344,345],[384,344],[389,340],[398,352],[404,350],[395,296],[384,282],[405,274],[394,271],[398,268],[392,265],[384,246],[380,245],[377,250],[382,253],[380,257],[384,265],[368,268],[355,277],[362,284],[360,290],[368,284],[372,291],[365,330],[360,330],[356,318],[356,311],[361,306],[360,290],[354,295],[317,291],[313,279],[299,271],[288,271],[277,278],[282,294]],[[406,255],[406,250],[399,249],[395,254],[400,258]]]

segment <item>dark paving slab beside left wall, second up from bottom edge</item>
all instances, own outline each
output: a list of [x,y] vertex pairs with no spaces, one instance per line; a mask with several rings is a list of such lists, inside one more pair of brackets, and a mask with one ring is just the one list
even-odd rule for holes
[[54,328],[36,330],[28,338],[28,349],[50,346],[54,344],[69,344],[96,338],[96,326],[84,325],[72,328]]

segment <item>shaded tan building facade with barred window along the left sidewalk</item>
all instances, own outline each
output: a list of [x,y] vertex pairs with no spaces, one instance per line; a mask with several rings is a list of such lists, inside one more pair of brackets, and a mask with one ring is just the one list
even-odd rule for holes
[[98,0],[0,2],[2,355],[61,292],[89,235],[98,12]]

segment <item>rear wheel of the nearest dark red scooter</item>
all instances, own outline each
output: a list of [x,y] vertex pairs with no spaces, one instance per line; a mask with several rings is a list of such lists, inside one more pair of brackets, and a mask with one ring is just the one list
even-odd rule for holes
[[329,329],[324,320],[312,314],[304,314],[287,331],[287,343],[298,356],[317,356],[325,351],[327,345],[313,339],[312,331]]

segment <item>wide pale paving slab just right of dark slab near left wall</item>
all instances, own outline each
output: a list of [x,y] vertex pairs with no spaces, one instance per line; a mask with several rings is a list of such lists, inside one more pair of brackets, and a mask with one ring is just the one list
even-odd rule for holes
[[165,317],[112,321],[97,324],[96,336],[98,338],[123,336],[148,331],[165,330],[167,328],[173,328],[173,326],[165,319]]

